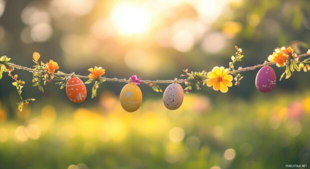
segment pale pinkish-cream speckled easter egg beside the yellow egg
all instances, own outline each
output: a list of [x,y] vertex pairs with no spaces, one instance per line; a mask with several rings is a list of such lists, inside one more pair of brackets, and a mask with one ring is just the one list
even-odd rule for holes
[[183,96],[182,86],[178,83],[172,83],[164,90],[162,101],[166,108],[174,110],[182,105]]

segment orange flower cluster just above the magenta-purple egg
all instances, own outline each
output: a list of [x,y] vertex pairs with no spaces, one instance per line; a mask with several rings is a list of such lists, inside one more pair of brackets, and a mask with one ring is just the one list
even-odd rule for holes
[[282,67],[286,64],[288,58],[293,57],[293,49],[291,47],[276,48],[274,52],[268,56],[268,60],[276,62],[276,66]]

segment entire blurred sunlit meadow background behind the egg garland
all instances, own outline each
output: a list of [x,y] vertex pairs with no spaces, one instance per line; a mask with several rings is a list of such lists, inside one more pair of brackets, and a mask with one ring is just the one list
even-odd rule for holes
[[[262,63],[274,48],[310,44],[308,0],[0,0],[0,54],[32,66],[32,53],[65,72],[173,79],[182,69]],[[274,67],[277,77],[284,71]],[[141,84],[142,106],[125,112],[124,83],[105,82],[81,104],[52,83],[40,93],[32,74],[19,112],[11,79],[0,80],[0,168],[285,168],[310,164],[310,74],[294,72],[269,93],[244,72],[227,93],[191,90],[174,111]],[[164,89],[165,85],[160,85]]]

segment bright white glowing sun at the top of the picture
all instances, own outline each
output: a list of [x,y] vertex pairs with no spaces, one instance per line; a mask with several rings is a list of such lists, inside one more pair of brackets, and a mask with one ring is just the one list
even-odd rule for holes
[[110,17],[120,34],[141,34],[149,29],[150,16],[139,4],[116,4]]

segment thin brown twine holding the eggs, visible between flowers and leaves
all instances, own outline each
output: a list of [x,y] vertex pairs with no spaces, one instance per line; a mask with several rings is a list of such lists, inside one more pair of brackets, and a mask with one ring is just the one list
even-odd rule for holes
[[[298,56],[295,56],[294,58],[300,58],[300,57],[304,57],[304,56],[308,56],[310,55],[310,53],[304,53],[304,54],[300,54]],[[40,70],[35,70],[35,69],[32,69],[32,68],[29,68],[29,67],[25,67],[25,66],[21,66],[21,65],[17,65],[17,64],[14,64],[14,63],[6,63],[8,65],[11,65],[17,69],[23,69],[23,70],[27,70],[29,72],[41,72]],[[275,64],[275,62],[265,62],[265,63],[262,63],[262,64],[257,64],[257,65],[254,65],[254,66],[250,66],[250,67],[243,67],[243,68],[239,68],[237,70],[233,70],[233,71],[230,71],[229,73],[232,74],[232,73],[238,73],[238,72],[242,72],[242,71],[248,71],[248,70],[253,70],[253,69],[256,69],[256,68],[259,68],[259,67],[262,67],[262,66],[265,66],[265,65],[272,65],[272,64]],[[56,73],[53,73],[53,75],[57,75],[57,76],[72,76],[72,74],[68,74],[68,73],[63,73],[63,72],[56,72]],[[79,77],[79,78],[88,78],[88,76],[85,76],[85,75],[74,75],[74,77]],[[106,80],[106,81],[116,81],[116,82],[129,82],[130,79],[121,79],[121,78],[108,78],[108,77],[101,77],[100,79],[102,80]],[[187,79],[174,79],[174,80],[140,80],[141,82],[144,82],[144,83],[173,83],[173,82],[177,82],[177,83],[182,83],[182,82],[185,82],[187,81]]]

